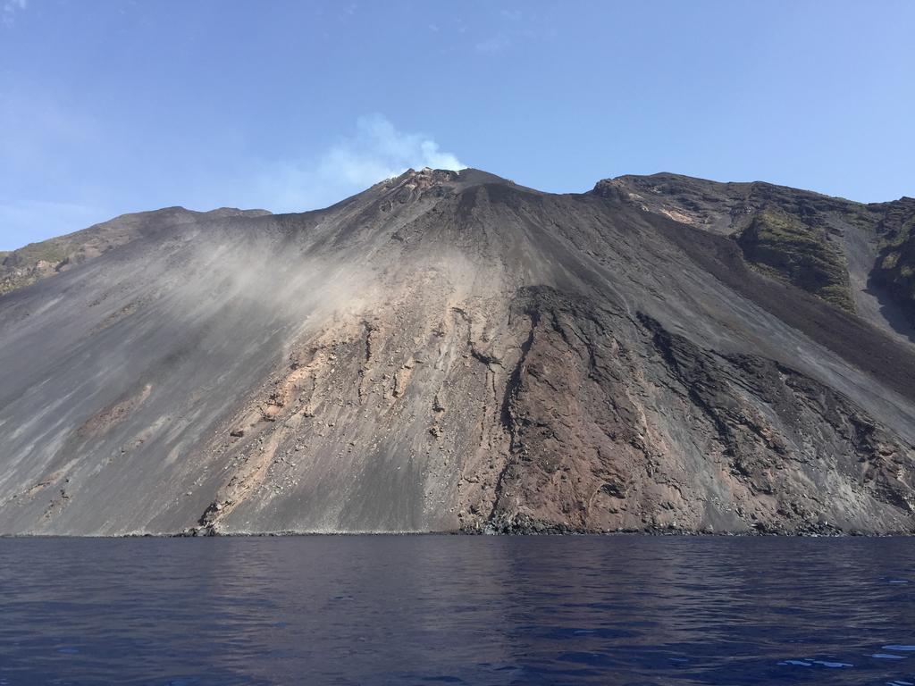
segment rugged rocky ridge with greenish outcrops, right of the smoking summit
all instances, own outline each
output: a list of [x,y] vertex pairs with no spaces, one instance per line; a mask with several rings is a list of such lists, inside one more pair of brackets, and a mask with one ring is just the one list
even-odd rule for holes
[[[900,340],[915,339],[906,252],[915,201],[862,203],[767,183],[675,174],[618,177],[597,192],[733,238],[759,271],[854,312]],[[894,255],[900,255],[901,261]],[[886,266],[883,266],[883,265]]]

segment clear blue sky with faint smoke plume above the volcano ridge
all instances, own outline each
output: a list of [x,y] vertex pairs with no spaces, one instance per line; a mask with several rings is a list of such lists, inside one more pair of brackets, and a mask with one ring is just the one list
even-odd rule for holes
[[0,0],[0,250],[425,165],[915,196],[915,2]]

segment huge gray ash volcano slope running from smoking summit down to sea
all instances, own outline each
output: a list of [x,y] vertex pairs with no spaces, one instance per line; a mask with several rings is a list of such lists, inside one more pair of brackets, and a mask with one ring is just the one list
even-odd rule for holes
[[688,179],[698,221],[652,178],[411,171],[3,295],[0,532],[915,531],[897,311],[852,259],[836,303],[722,228],[791,233],[802,191]]

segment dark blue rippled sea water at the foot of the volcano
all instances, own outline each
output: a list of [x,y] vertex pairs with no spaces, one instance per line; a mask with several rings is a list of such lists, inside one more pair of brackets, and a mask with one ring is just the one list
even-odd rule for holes
[[915,540],[0,540],[0,686],[915,684]]

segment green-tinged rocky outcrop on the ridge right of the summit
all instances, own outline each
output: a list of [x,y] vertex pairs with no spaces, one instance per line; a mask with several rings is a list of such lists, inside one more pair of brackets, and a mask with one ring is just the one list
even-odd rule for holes
[[826,239],[823,227],[767,207],[737,238],[748,262],[827,303],[855,311],[845,258]]

